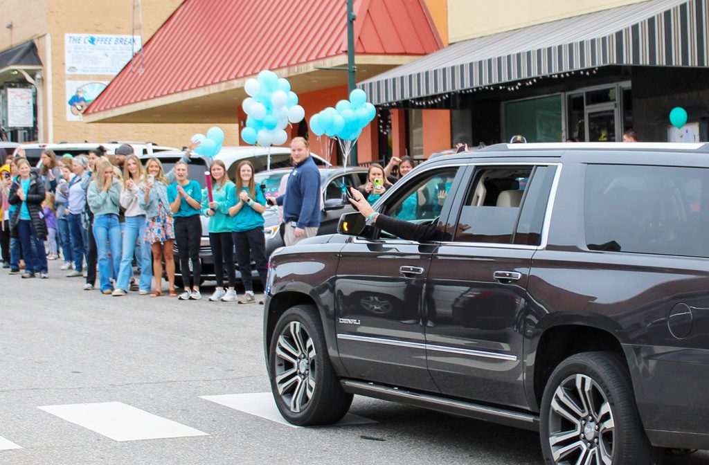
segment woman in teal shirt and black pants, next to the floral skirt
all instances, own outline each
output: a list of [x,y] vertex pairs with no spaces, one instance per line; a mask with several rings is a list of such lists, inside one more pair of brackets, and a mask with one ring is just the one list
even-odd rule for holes
[[[202,266],[199,262],[199,240],[202,237],[202,187],[199,182],[187,179],[188,168],[183,161],[175,163],[174,184],[167,186],[167,201],[174,217],[175,241],[179,252],[182,285],[184,292],[178,298],[181,301],[199,300],[199,281]],[[192,274],[189,273],[189,261],[192,260]],[[190,282],[191,279],[191,282]]]

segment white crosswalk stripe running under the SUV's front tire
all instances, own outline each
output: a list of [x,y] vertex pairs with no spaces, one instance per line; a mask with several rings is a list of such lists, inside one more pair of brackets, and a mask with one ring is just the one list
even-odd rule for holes
[[[249,415],[265,418],[266,420],[271,420],[272,422],[277,422],[281,425],[299,428],[299,426],[291,425],[291,423],[284,420],[283,416],[276,407],[276,401],[273,399],[273,394],[269,392],[223,394],[220,396],[200,397],[205,400],[210,400],[211,402],[224,405],[225,407],[233,408],[234,410],[239,410],[243,413],[248,413]],[[347,413],[345,418],[342,418],[342,420],[335,423],[335,426],[367,425],[369,423],[376,423],[376,421],[369,420],[369,418],[360,417],[359,415],[354,415],[354,413]]]

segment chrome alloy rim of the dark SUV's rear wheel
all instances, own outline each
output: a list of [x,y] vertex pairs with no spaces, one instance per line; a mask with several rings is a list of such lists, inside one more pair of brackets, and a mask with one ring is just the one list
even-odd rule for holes
[[549,411],[549,447],[554,464],[611,465],[615,424],[608,398],[584,374],[564,379]]

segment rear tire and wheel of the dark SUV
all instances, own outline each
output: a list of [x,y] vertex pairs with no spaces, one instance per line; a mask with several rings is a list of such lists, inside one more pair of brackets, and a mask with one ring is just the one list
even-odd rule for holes
[[584,352],[560,363],[545,387],[540,423],[545,464],[596,464],[597,458],[661,464],[640,422],[630,375],[613,352]]

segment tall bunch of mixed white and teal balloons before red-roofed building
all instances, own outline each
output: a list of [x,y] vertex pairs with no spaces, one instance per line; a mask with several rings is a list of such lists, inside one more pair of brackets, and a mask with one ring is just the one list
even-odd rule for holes
[[264,70],[258,79],[248,79],[244,89],[250,95],[241,104],[248,115],[246,127],[241,130],[244,142],[258,142],[262,147],[286,143],[286,126],[299,123],[306,116],[288,79]]

